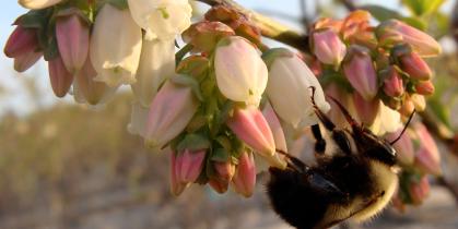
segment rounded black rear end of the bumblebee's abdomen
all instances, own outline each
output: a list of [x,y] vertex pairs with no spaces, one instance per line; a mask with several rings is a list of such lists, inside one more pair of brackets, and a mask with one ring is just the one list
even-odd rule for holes
[[304,174],[293,170],[270,169],[267,184],[273,209],[298,229],[313,229],[322,219],[329,200],[304,182]]

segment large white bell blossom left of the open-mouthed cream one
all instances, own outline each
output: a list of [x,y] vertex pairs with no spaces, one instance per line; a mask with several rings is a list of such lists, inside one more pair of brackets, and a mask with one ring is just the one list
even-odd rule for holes
[[142,45],[141,28],[129,10],[104,4],[95,17],[90,57],[96,81],[110,87],[136,82]]

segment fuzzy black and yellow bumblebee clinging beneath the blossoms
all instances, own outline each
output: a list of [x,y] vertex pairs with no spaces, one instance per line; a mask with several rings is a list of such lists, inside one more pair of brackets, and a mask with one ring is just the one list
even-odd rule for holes
[[289,165],[284,170],[269,169],[267,191],[272,208],[297,229],[329,228],[350,218],[369,219],[384,209],[397,189],[392,147],[397,140],[389,143],[376,136],[359,124],[339,101],[330,98],[350,123],[349,129],[337,129],[315,105],[313,95],[314,92],[315,113],[330,132],[337,149],[332,156],[325,155],[326,141],[317,124],[312,126],[316,138],[315,166],[279,152],[286,156]]

